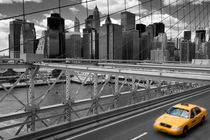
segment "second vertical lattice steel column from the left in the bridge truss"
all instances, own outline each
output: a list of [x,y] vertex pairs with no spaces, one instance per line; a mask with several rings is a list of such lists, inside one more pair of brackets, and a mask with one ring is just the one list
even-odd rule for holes
[[66,70],[66,109],[65,120],[71,121],[71,71]]

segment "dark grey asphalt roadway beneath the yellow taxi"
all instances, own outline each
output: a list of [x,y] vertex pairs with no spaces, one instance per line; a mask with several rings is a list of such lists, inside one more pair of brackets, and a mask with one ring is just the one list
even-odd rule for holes
[[[179,102],[192,103],[207,109],[208,116],[203,125],[191,129],[187,136],[171,136],[158,132],[153,128],[157,117],[170,106]],[[96,128],[68,140],[210,140],[210,91],[201,92],[182,101],[173,102],[166,106],[126,118],[101,128]]]

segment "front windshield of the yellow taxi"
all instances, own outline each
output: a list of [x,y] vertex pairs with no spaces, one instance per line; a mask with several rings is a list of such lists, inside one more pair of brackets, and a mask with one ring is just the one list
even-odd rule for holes
[[181,108],[172,107],[167,113],[178,117],[189,118],[189,111]]

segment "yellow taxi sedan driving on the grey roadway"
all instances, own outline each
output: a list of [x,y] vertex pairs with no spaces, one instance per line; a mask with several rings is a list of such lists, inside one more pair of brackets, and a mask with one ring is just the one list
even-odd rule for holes
[[207,111],[194,104],[179,103],[158,117],[153,126],[158,131],[172,135],[186,135],[192,127],[205,121]]

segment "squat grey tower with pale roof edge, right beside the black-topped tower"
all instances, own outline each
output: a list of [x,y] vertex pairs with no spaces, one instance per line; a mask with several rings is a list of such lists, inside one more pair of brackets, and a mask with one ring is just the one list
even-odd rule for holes
[[81,58],[82,39],[80,32],[66,33],[66,57]]

